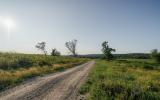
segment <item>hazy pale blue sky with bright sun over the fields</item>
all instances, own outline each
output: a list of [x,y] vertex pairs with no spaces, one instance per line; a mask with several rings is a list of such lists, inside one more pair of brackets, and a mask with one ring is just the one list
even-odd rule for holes
[[101,53],[105,40],[116,53],[160,49],[160,0],[0,0],[0,51],[39,53],[45,41],[68,54],[72,39],[79,54]]

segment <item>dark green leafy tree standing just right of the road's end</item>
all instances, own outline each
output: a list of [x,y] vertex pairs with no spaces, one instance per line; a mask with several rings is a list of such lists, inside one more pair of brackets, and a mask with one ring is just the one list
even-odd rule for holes
[[112,52],[115,52],[115,51],[116,51],[115,49],[109,47],[108,42],[104,41],[102,43],[102,52],[104,54],[104,57],[107,60],[113,59]]

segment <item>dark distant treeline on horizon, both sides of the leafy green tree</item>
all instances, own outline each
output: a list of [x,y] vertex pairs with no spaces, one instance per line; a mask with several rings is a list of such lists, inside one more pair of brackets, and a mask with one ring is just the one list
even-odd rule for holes
[[[118,59],[150,59],[151,58],[149,53],[113,54],[113,56]],[[103,58],[103,54],[88,54],[88,55],[80,55],[79,57]]]

